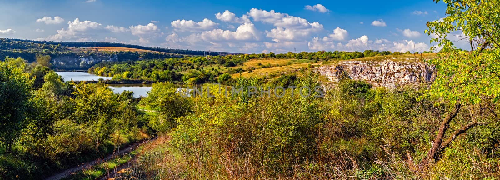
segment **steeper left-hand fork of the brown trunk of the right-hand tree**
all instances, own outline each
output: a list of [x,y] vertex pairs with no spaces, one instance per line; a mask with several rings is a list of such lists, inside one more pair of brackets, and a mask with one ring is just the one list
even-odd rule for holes
[[427,165],[430,159],[435,159],[437,157],[437,153],[439,152],[439,149],[441,147],[442,139],[444,137],[444,134],[446,133],[446,130],[449,127],[449,122],[456,116],[458,110],[460,110],[460,107],[461,107],[460,103],[455,104],[451,113],[446,115],[446,117],[444,117],[444,119],[442,120],[441,125],[439,126],[439,130],[437,131],[437,135],[432,143],[432,146],[427,152],[427,156],[425,156],[422,160],[423,166]]

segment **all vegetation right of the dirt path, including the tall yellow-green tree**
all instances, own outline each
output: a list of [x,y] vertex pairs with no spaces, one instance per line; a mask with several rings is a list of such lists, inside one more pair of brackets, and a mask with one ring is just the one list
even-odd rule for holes
[[[344,77],[323,98],[212,89],[214,97],[187,98],[181,112],[152,104],[172,128],[159,129],[166,135],[146,145],[122,179],[497,179],[500,3],[444,2],[447,16],[426,31],[441,48],[428,61],[435,81],[391,90]],[[470,51],[446,37],[457,29]],[[293,83],[318,82],[309,72]]]

